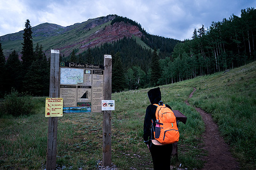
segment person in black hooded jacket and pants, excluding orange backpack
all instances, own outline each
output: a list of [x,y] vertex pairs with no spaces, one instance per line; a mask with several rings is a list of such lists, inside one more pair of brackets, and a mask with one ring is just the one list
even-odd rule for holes
[[[170,170],[171,165],[171,152],[172,144],[162,144],[158,142],[153,135],[152,128],[156,126],[156,110],[157,106],[153,104],[163,105],[161,101],[161,91],[160,88],[152,88],[147,92],[148,98],[151,105],[146,108],[146,115],[144,119],[144,135],[143,139],[150,150],[154,170]],[[170,108],[170,106],[165,105]],[[152,127],[153,124],[153,127]]]

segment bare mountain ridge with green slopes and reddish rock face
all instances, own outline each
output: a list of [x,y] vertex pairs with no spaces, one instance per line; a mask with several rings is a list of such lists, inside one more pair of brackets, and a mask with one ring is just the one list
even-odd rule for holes
[[[121,18],[123,21],[112,22],[115,18]],[[135,22],[132,20],[129,23],[127,20],[129,19],[117,15],[108,15],[106,17],[88,19],[82,23],[74,23],[67,27],[55,23],[41,23],[31,28],[33,44],[34,46],[37,43],[41,44],[46,56],[49,57],[50,49],[59,49],[61,54],[68,56],[72,53],[73,49],[77,49],[76,51],[79,54],[86,51],[89,47],[93,48],[104,43],[113,43],[113,41],[118,41],[123,37],[137,37],[136,40],[142,41],[140,39],[142,36],[145,37],[146,31],[142,30],[140,24],[134,24]],[[0,43],[6,58],[13,50],[16,50],[21,55],[23,32],[22,30],[17,33],[1,36]],[[148,41],[151,43],[153,38]],[[138,44],[141,44],[141,42]],[[147,48],[149,47],[149,45],[144,43],[144,47],[146,46]]]

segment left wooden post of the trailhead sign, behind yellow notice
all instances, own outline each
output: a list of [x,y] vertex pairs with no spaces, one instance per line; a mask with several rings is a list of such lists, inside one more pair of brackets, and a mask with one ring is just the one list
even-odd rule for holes
[[[60,67],[60,51],[51,50],[49,97],[53,97],[53,98],[59,97],[59,85],[60,85],[59,67]],[[57,124],[58,124],[58,117],[49,117],[47,153],[46,153],[47,155],[46,170],[56,169]]]

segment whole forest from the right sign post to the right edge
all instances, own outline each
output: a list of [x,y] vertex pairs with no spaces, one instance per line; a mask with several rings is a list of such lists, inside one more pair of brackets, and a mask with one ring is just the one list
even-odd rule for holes
[[[232,15],[221,22],[212,22],[207,29],[202,25],[200,29],[194,30],[191,40],[184,41],[167,41],[163,37],[150,35],[140,24],[128,18],[116,17],[112,24],[122,21],[138,26],[143,33],[141,40],[157,50],[146,50],[138,46],[135,39],[125,37],[80,54],[88,58],[91,53],[100,62],[103,62],[102,56],[106,53],[112,55],[113,63],[115,58],[121,59],[122,64],[116,64],[116,67],[122,67],[120,76],[125,80],[123,86],[118,85],[120,88],[114,88],[114,91],[179,82],[233,69],[256,60],[254,8],[241,10],[241,17]],[[115,86],[115,76],[112,82]]]

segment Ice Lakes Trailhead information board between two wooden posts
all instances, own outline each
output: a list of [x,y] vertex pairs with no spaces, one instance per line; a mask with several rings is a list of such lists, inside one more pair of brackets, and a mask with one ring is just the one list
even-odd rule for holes
[[60,98],[63,113],[101,112],[104,65],[60,63]]

